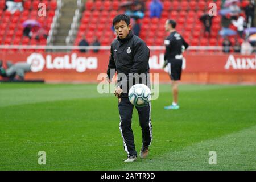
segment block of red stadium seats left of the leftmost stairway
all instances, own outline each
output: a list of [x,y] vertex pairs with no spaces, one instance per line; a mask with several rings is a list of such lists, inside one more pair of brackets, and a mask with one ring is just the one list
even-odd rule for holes
[[[38,16],[39,3],[46,4],[46,16]],[[29,39],[23,36],[22,23],[28,19],[37,20],[42,27],[49,32],[53,16],[55,15],[55,9],[57,8],[56,0],[26,0],[23,3],[24,10],[20,12],[16,10],[14,14],[5,10],[5,0],[0,0],[0,44],[2,45],[46,45],[46,39],[36,41],[35,39]],[[3,51],[3,50],[2,50]],[[15,50],[13,50],[15,51]]]

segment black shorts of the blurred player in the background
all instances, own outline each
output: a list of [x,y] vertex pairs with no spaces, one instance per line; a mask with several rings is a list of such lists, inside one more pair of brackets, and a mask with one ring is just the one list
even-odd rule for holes
[[182,60],[170,61],[167,64],[167,67],[171,80],[180,80],[182,72]]

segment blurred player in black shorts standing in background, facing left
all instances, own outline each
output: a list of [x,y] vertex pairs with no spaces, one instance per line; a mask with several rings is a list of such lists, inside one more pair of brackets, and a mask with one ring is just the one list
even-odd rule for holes
[[172,104],[164,107],[164,109],[179,109],[178,81],[180,80],[182,71],[183,49],[188,48],[188,43],[185,42],[183,37],[178,32],[176,32],[176,22],[174,20],[167,20],[164,27],[166,28],[166,31],[170,32],[170,35],[164,40],[164,45],[166,46],[166,52],[164,54],[164,67],[166,67],[166,65],[168,67],[168,73],[172,80],[173,93]]

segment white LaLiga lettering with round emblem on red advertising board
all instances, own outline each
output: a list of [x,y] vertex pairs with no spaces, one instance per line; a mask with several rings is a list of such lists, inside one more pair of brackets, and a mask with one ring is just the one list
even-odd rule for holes
[[32,72],[40,72],[44,69],[75,69],[77,72],[84,72],[86,69],[97,69],[97,57],[77,57],[76,53],[71,56],[64,55],[63,57],[55,57],[52,60],[52,55],[47,55],[46,60],[39,53],[32,53],[27,58],[27,63],[31,64]]

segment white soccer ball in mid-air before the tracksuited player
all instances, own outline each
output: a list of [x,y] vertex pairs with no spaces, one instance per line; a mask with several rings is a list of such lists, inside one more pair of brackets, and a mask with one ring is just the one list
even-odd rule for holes
[[128,98],[134,106],[143,107],[151,100],[150,88],[144,84],[135,84],[130,88]]

